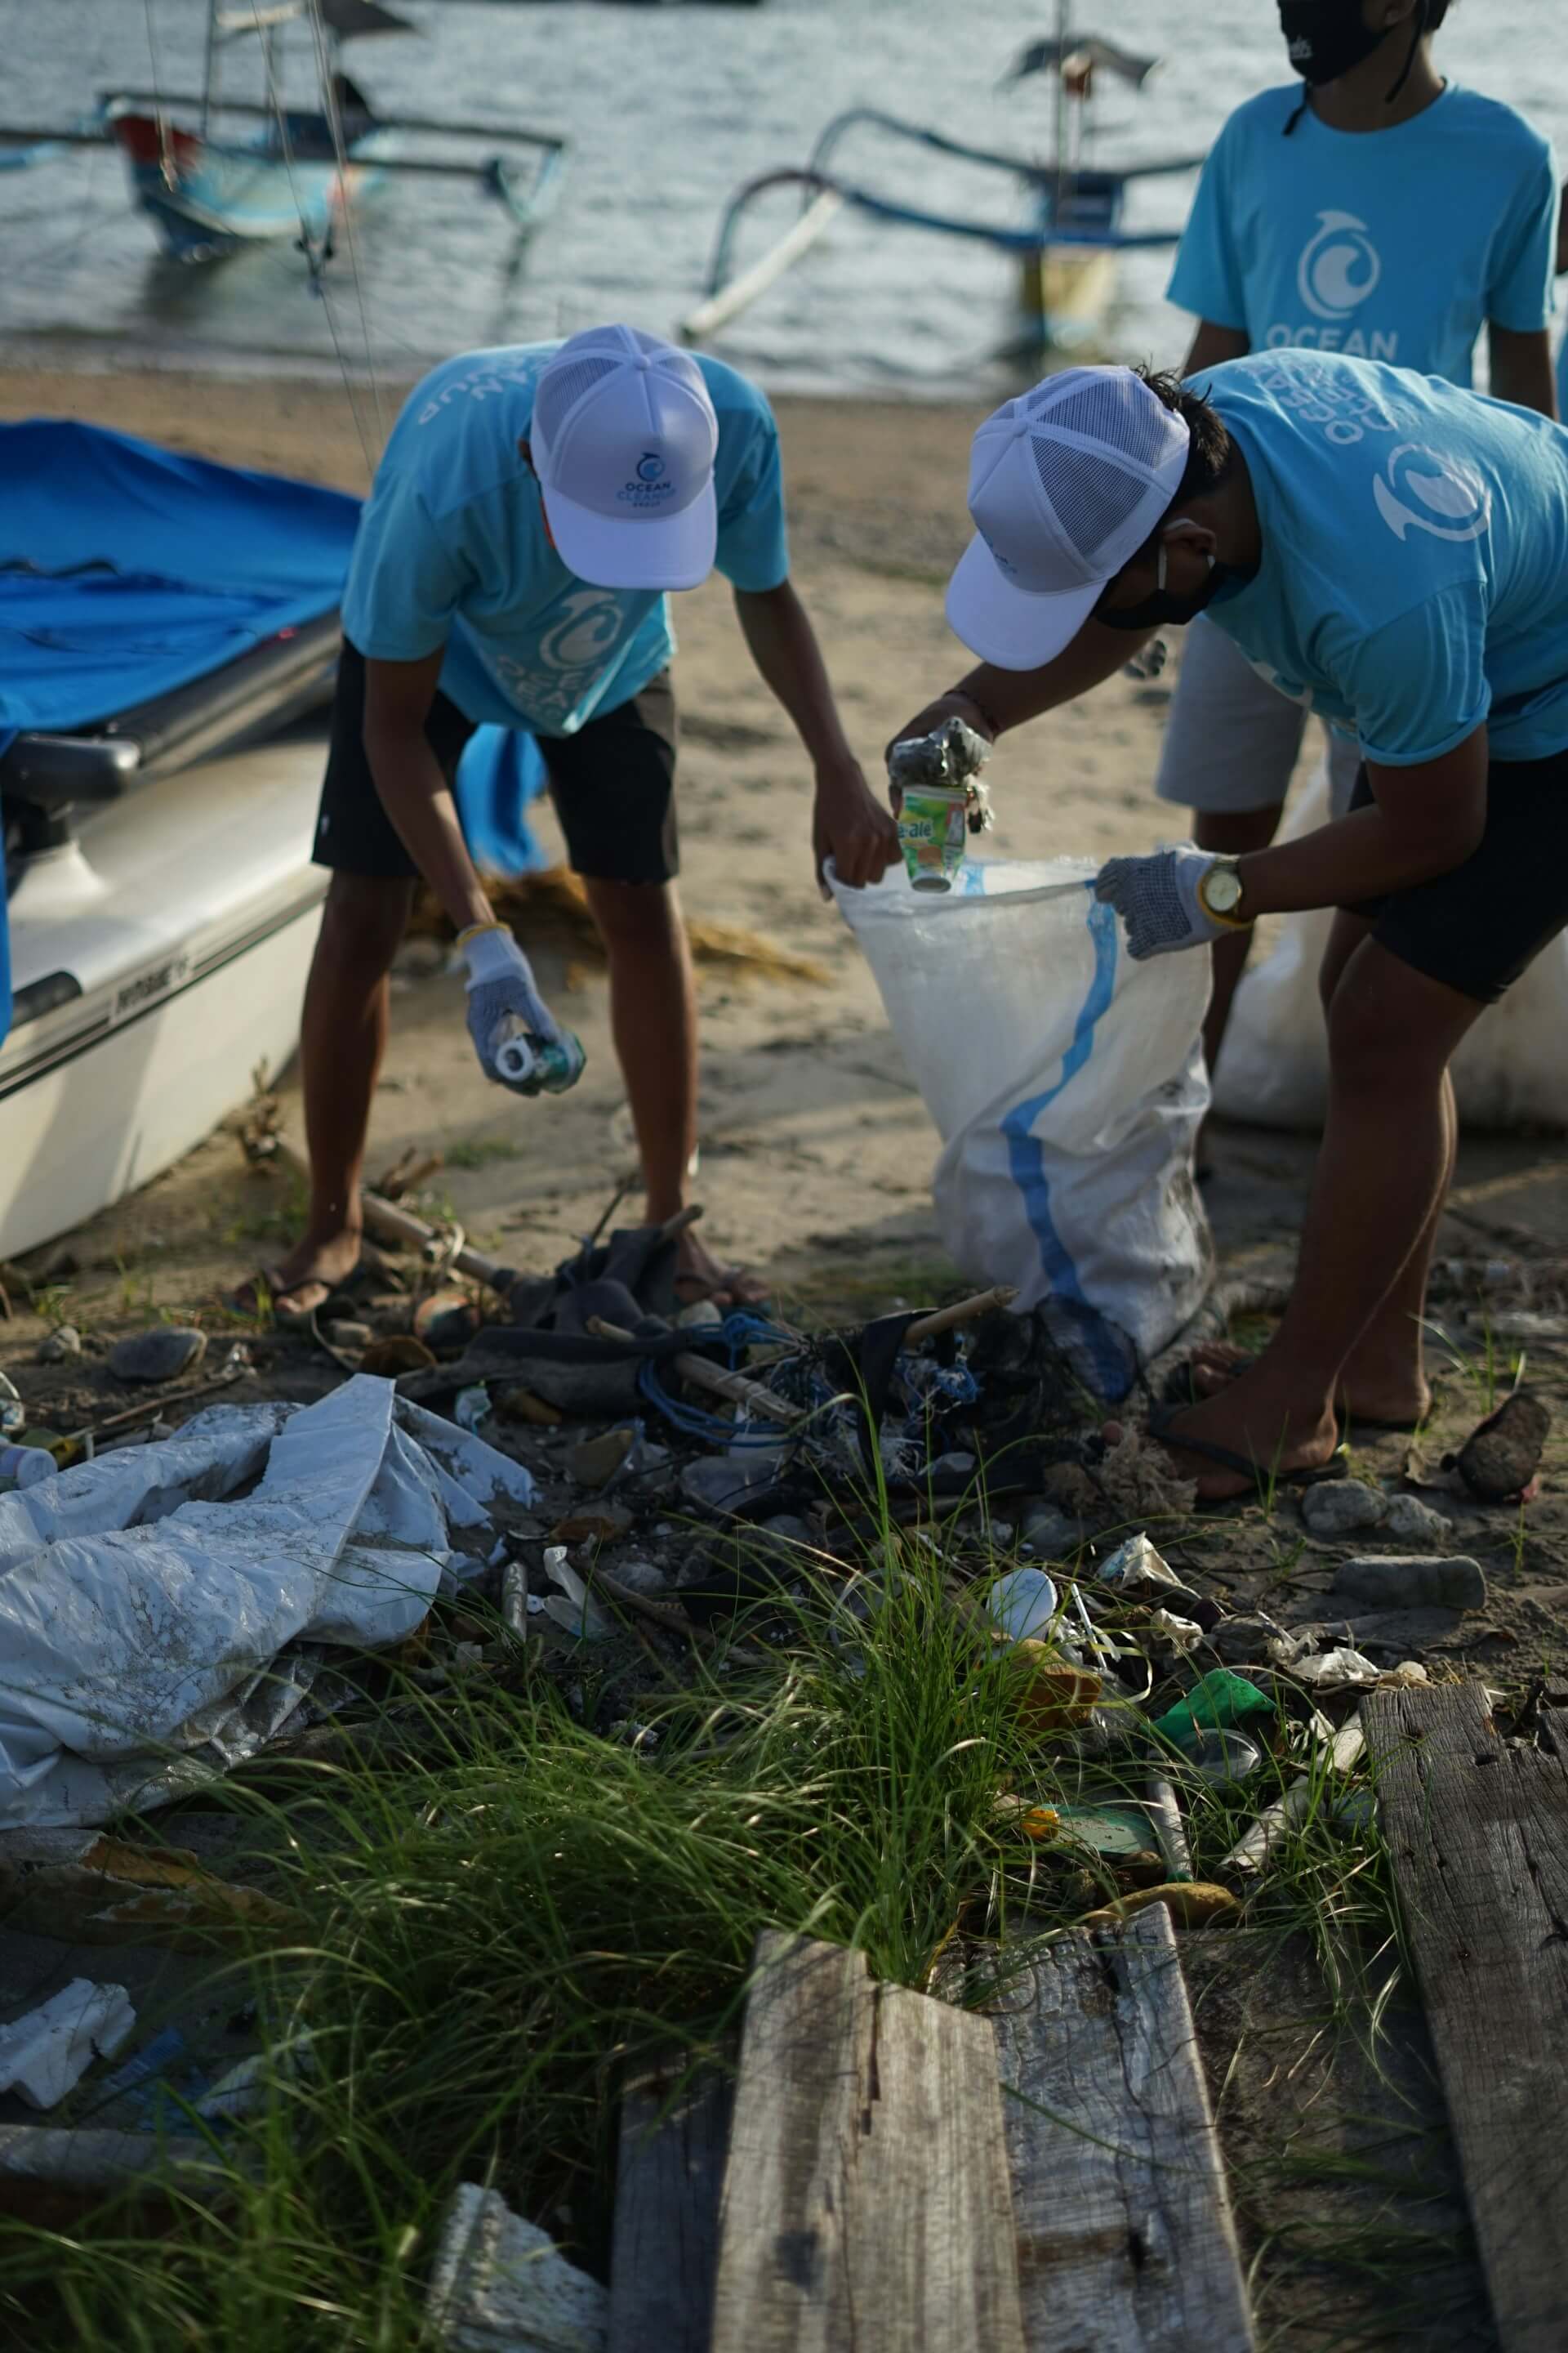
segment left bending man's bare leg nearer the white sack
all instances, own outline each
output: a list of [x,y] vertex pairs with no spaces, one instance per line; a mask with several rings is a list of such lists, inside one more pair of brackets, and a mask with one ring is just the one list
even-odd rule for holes
[[[684,1207],[696,1155],[696,981],[686,925],[675,882],[583,875],[583,887],[609,955],[609,1019],[654,1226]],[[719,1282],[719,1304],[766,1292],[755,1278],[724,1282],[696,1233],[682,1235],[682,1275],[693,1285]]]

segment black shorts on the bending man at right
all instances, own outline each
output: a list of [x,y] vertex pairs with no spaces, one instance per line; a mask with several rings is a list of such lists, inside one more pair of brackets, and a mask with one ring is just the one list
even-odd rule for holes
[[[1366,767],[1352,809],[1373,802]],[[1568,751],[1549,760],[1493,760],[1486,833],[1462,866],[1345,908],[1401,965],[1462,998],[1495,1005],[1568,927]]]

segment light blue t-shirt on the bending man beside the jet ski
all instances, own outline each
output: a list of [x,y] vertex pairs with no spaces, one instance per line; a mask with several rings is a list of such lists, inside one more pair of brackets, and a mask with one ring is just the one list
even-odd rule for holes
[[[470,351],[414,388],[376,468],[343,593],[343,633],[362,654],[418,661],[444,642],[442,692],[458,711],[555,736],[630,701],[675,652],[665,595],[595,588],[545,539],[517,442],[557,351]],[[696,365],[719,419],[717,567],[736,588],[778,588],[790,553],[773,414],[733,367]]]

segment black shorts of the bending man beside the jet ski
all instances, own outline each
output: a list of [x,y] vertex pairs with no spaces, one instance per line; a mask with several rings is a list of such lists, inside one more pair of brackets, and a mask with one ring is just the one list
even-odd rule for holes
[[[425,736],[447,784],[456,779],[475,722],[440,694]],[[574,736],[538,736],[550,800],[567,835],[571,871],[592,882],[670,882],[679,871],[675,835],[675,692],[661,671],[642,694],[588,720]],[[331,706],[327,781],[315,821],[317,866],[348,875],[414,878],[364,758],[364,654],[343,638]]]

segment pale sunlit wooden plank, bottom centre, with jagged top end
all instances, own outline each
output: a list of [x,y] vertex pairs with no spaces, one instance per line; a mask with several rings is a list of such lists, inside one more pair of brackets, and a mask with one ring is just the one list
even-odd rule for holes
[[712,2353],[1025,2353],[987,2021],[757,1944]]

